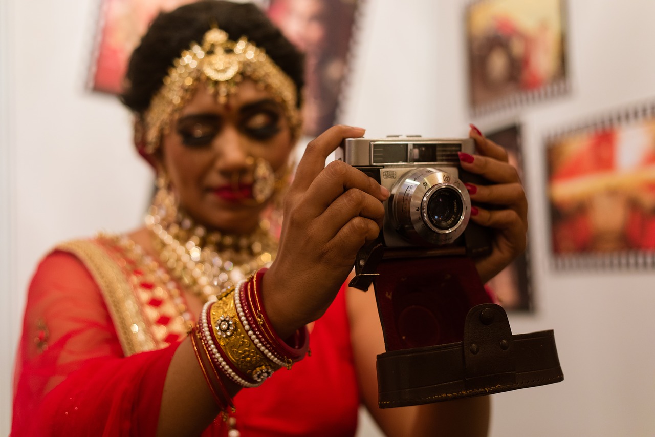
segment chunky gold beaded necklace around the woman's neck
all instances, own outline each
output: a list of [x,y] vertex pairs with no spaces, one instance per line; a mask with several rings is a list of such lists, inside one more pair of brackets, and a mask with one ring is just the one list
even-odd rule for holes
[[145,217],[162,264],[180,285],[202,301],[217,295],[274,259],[278,242],[271,224],[262,220],[250,235],[208,232],[178,211],[177,201],[164,176]]

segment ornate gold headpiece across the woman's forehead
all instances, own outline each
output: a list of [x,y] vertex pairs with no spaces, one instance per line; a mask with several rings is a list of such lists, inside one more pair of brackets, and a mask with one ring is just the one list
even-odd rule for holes
[[291,134],[298,138],[301,117],[291,78],[246,37],[231,41],[225,31],[212,28],[204,34],[202,46],[191,44],[191,49],[183,51],[168,69],[164,85],[145,112],[145,152],[152,154],[157,150],[171,118],[193,95],[200,81],[206,82],[219,102],[224,103],[244,77],[263,86],[284,106]]

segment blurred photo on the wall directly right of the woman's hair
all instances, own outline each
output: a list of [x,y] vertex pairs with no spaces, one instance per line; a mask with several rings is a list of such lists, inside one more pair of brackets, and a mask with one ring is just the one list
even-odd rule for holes
[[358,0],[271,0],[271,20],[305,53],[303,132],[335,123]]

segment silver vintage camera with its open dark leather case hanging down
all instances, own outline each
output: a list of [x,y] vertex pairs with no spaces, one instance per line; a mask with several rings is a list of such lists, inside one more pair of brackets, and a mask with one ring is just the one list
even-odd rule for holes
[[[403,407],[491,394],[563,379],[553,331],[512,335],[473,257],[491,234],[470,221],[460,167],[474,140],[347,138],[336,159],[388,188],[383,232],[360,249],[351,287],[377,302],[386,352],[377,356],[378,405]],[[483,205],[490,208],[491,205]]]

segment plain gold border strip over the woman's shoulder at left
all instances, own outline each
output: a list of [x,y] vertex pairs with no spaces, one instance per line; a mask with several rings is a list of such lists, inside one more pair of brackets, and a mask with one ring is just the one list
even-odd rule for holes
[[155,340],[147,329],[132,285],[109,254],[96,241],[75,240],[57,249],[79,258],[100,287],[126,356],[153,350]]

